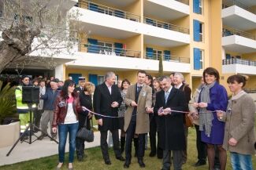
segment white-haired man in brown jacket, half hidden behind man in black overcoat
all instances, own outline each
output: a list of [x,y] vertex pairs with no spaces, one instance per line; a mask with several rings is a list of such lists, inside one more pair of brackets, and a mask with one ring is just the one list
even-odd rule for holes
[[[186,96],[186,111],[188,111],[188,103],[191,100],[191,89],[188,87],[187,84],[184,83],[184,75],[181,73],[175,73],[173,77],[173,84],[176,89],[180,89],[185,93]],[[187,115],[186,115],[187,116]],[[184,124],[185,124],[185,117],[184,117]],[[185,136],[186,136],[186,149],[183,152],[183,164],[187,161],[187,135],[188,135],[188,128],[184,125],[185,129]]]

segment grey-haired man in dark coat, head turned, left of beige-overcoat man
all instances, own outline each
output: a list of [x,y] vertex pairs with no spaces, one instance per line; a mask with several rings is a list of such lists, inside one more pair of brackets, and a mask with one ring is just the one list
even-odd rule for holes
[[[113,72],[108,72],[105,75],[105,82],[96,87],[93,97],[95,113],[104,116],[118,117],[117,109],[121,105],[122,97],[117,85],[114,85],[115,81],[116,75]],[[106,142],[108,130],[112,133],[113,150],[116,158],[120,161],[124,161],[119,145],[119,121],[117,118],[106,118],[104,116],[95,115],[95,118],[98,120],[98,130],[101,133],[101,149],[105,164],[111,165],[108,143]]]

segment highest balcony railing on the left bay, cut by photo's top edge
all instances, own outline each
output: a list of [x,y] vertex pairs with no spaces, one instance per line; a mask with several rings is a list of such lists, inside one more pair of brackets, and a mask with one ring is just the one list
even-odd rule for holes
[[109,16],[117,16],[119,18],[140,22],[140,16],[135,15],[133,13],[122,11],[120,9],[113,9],[113,8],[110,8],[109,6],[100,5],[97,3],[92,3],[87,1],[81,1],[77,5],[80,8],[89,9],[97,13],[105,13],[106,15],[109,15]]

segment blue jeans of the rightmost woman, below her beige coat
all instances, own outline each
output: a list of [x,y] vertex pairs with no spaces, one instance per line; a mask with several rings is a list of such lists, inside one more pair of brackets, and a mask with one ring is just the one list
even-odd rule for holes
[[231,152],[230,158],[233,170],[253,170],[250,154]]

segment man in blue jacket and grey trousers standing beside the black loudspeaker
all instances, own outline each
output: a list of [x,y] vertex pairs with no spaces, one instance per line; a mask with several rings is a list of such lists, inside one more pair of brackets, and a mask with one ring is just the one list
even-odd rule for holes
[[40,97],[43,99],[43,114],[41,117],[41,129],[44,133],[41,133],[39,140],[42,140],[47,134],[48,122],[50,121],[50,134],[53,139],[57,138],[57,134],[52,132],[51,122],[54,119],[54,102],[58,96],[58,79],[50,81],[50,88],[46,89],[46,93]]

